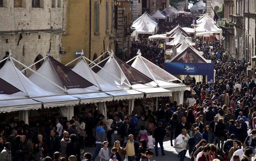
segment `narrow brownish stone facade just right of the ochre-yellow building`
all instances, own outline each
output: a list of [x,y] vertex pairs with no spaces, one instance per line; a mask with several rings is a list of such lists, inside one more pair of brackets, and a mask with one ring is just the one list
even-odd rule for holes
[[131,41],[131,3],[130,0],[117,0],[117,53],[116,55],[125,60],[130,56]]

